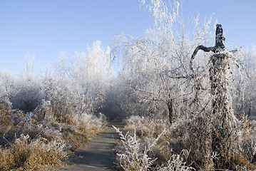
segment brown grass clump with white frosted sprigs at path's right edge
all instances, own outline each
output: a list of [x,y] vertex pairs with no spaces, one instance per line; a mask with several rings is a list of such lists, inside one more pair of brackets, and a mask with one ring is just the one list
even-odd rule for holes
[[[157,170],[173,156],[163,120],[131,116],[116,146],[118,167],[123,170]],[[167,166],[167,165],[166,165]]]

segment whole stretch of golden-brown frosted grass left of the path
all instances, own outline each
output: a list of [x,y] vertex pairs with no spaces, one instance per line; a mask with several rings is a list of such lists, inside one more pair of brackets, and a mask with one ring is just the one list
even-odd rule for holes
[[[104,115],[83,114],[71,123],[50,119],[49,110],[23,113],[0,105],[0,170],[34,170],[60,166],[89,138],[103,130]],[[40,112],[39,112],[40,111]],[[42,112],[47,112],[44,118]],[[26,136],[25,136],[26,135]]]

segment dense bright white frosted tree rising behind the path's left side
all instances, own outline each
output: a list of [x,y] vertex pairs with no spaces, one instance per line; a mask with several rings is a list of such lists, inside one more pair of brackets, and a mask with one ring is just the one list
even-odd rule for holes
[[88,46],[87,52],[76,52],[73,56],[60,53],[56,75],[65,84],[78,113],[94,113],[103,102],[113,77],[109,54],[110,48],[104,51],[100,41]]

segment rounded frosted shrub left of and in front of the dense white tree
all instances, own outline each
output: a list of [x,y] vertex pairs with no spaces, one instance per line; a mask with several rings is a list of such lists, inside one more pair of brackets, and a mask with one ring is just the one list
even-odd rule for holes
[[73,123],[79,111],[70,83],[63,78],[47,78],[44,81],[43,92],[45,99],[39,105],[38,115],[53,118],[59,123]]

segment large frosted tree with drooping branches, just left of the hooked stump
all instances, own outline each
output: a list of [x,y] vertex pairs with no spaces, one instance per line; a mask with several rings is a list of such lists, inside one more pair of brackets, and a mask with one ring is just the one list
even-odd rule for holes
[[[209,96],[203,87],[207,86],[203,85],[206,74],[203,71],[207,61],[205,58],[197,58],[196,78],[192,76],[189,61],[198,43],[208,44],[213,38],[213,34],[208,31],[210,20],[200,26],[196,18],[194,30],[186,30],[179,16],[178,1],[174,2],[170,10],[160,0],[141,3],[150,11],[155,26],[148,29],[142,38],[121,33],[113,41],[113,49],[123,52],[120,75],[129,92],[126,93],[129,99],[126,104],[141,108],[130,113],[162,113],[162,116],[167,113],[172,123],[175,115],[188,113],[193,105],[197,105],[198,110],[208,105]],[[190,31],[193,33],[190,34]]]

